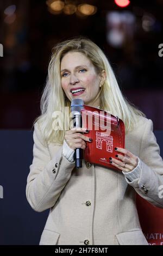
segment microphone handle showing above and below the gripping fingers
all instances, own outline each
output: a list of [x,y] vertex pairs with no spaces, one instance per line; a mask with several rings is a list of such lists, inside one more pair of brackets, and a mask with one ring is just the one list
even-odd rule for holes
[[[74,115],[74,127],[82,127],[82,115],[76,114]],[[76,164],[76,168],[82,167],[82,159],[83,159],[83,149],[77,148],[74,152],[73,159]]]

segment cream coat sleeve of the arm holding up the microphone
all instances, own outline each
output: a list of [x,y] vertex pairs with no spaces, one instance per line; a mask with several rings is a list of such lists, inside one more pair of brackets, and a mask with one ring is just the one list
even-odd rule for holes
[[34,125],[33,139],[33,162],[29,167],[26,196],[30,206],[41,212],[55,205],[75,164],[62,155],[62,146],[58,147],[51,159],[37,123]]

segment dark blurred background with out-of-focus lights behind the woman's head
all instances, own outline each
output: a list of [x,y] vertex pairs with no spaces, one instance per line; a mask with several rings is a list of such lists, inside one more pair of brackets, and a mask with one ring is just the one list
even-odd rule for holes
[[0,129],[32,128],[52,47],[84,35],[108,56],[123,94],[163,130],[163,0],[116,2],[129,1],[1,0]]

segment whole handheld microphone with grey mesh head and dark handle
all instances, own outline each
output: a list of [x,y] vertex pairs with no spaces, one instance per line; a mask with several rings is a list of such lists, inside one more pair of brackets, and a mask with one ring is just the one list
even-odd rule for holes
[[[82,109],[84,101],[81,99],[73,99],[71,101],[71,112],[73,115],[73,127],[82,127]],[[83,149],[76,149],[74,152],[74,161],[76,168],[82,167]]]

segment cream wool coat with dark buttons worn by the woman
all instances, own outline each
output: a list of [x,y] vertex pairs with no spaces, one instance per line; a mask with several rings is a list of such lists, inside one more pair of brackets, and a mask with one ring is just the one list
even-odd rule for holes
[[132,182],[121,171],[90,166],[84,160],[82,168],[74,168],[74,162],[62,156],[62,145],[44,145],[37,123],[33,138],[27,199],[35,211],[50,208],[40,245],[148,244],[137,215],[135,191],[163,208],[158,193],[163,161],[150,119],[139,117],[135,130],[126,135],[125,148],[141,160],[140,178]]

